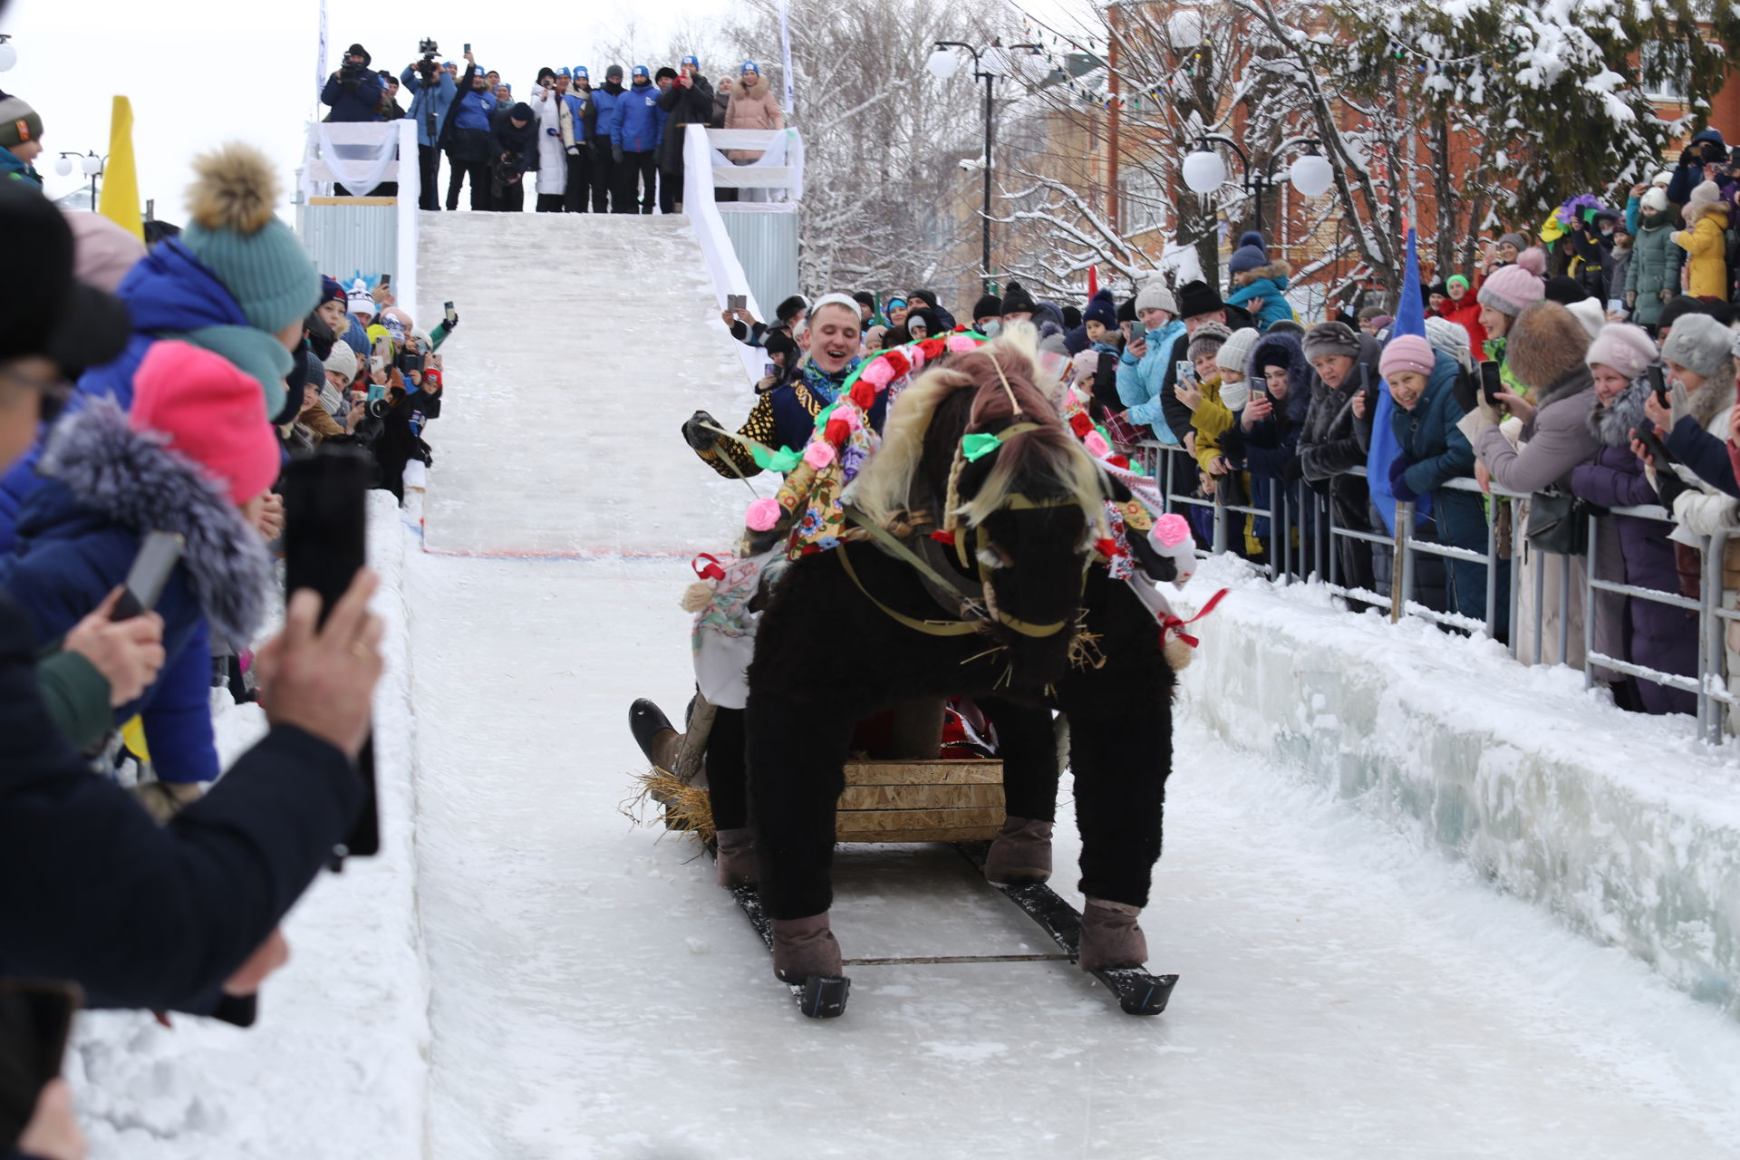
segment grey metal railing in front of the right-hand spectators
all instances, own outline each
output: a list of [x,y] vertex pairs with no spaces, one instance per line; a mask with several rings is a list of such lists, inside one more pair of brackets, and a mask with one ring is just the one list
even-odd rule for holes
[[[1268,536],[1265,544],[1265,560],[1251,562],[1253,567],[1268,576],[1274,583],[1288,584],[1295,579],[1298,581],[1315,581],[1321,583],[1329,591],[1345,597],[1348,600],[1359,600],[1375,607],[1387,609],[1390,621],[1397,623],[1402,616],[1413,616],[1420,619],[1432,621],[1436,624],[1455,628],[1470,635],[1498,637],[1500,619],[1498,619],[1498,577],[1500,569],[1509,569],[1510,595],[1507,602],[1507,619],[1509,624],[1509,649],[1510,656],[1517,656],[1517,643],[1522,640],[1522,633],[1529,635],[1533,645],[1529,656],[1535,657],[1536,664],[1543,663],[1542,645],[1545,643],[1545,586],[1547,586],[1547,569],[1533,569],[1533,614],[1529,623],[1519,624],[1521,612],[1521,595],[1522,595],[1522,550],[1528,539],[1526,529],[1521,522],[1519,501],[1529,499],[1528,494],[1510,492],[1496,483],[1491,485],[1489,492],[1482,492],[1479,483],[1472,478],[1456,478],[1444,482],[1436,490],[1458,490],[1474,492],[1488,501],[1486,515],[1486,551],[1476,551],[1472,548],[1462,548],[1456,544],[1437,543],[1432,539],[1420,539],[1415,529],[1415,504],[1397,501],[1395,504],[1395,534],[1383,536],[1378,532],[1368,532],[1362,527],[1338,527],[1335,518],[1335,503],[1329,496],[1319,494],[1310,487],[1289,489],[1282,480],[1268,480],[1268,508],[1255,508],[1244,504],[1228,504],[1223,501],[1221,489],[1215,489],[1213,497],[1202,497],[1199,494],[1180,494],[1176,490],[1176,468],[1174,457],[1185,456],[1188,461],[1188,470],[1185,477],[1195,480],[1199,464],[1188,450],[1176,443],[1161,443],[1157,440],[1143,440],[1136,445],[1136,457],[1140,459],[1143,470],[1152,477],[1161,480],[1161,496],[1166,504],[1166,511],[1176,511],[1178,508],[1208,508],[1213,510],[1213,534],[1209,536],[1209,546],[1197,548],[1199,557],[1213,557],[1228,551],[1228,518],[1232,515],[1249,515],[1258,518],[1268,518]],[[1354,468],[1348,475],[1364,477],[1362,468]],[[1267,477],[1265,477],[1267,478]],[[1512,550],[1509,560],[1500,551],[1498,537],[1498,511],[1500,508],[1510,510],[1510,529],[1512,529]],[[1312,520],[1302,517],[1310,513]],[[1636,517],[1641,520],[1658,520],[1662,523],[1672,523],[1674,518],[1665,508],[1656,504],[1646,504],[1637,508],[1610,508],[1603,515],[1620,515]],[[1693,694],[1696,703],[1696,725],[1698,736],[1712,744],[1721,743],[1724,718],[1735,711],[1740,711],[1740,699],[1737,699],[1726,687],[1723,678],[1723,635],[1724,626],[1730,623],[1740,623],[1740,610],[1723,607],[1723,555],[1730,539],[1728,530],[1721,530],[1714,536],[1696,537],[1693,544],[1702,553],[1702,569],[1698,576],[1698,597],[1681,595],[1677,591],[1660,591],[1655,588],[1641,588],[1637,584],[1623,584],[1611,579],[1603,579],[1596,572],[1596,560],[1601,544],[1601,518],[1603,515],[1589,517],[1589,550],[1583,579],[1583,685],[1596,685],[1596,670],[1611,670],[1636,680],[1646,680],[1655,685],[1667,689],[1681,689]],[[1295,532],[1298,532],[1298,541],[1295,543]],[[1355,541],[1361,544],[1371,544],[1378,550],[1387,550],[1390,553],[1390,591],[1375,591],[1362,586],[1352,586],[1343,583],[1340,576],[1340,560],[1336,553],[1336,541]],[[1279,551],[1275,544],[1279,543]],[[1529,551],[1540,551],[1538,546],[1529,544]],[[1448,612],[1442,609],[1432,609],[1418,600],[1415,600],[1415,586],[1418,581],[1418,558],[1422,555],[1437,557],[1448,563],[1474,563],[1481,565],[1486,572],[1486,602],[1484,616],[1472,617],[1462,612]],[[1554,555],[1554,553],[1542,553]],[[1308,567],[1307,567],[1308,562]],[[1571,567],[1569,558],[1566,558],[1566,567],[1559,569],[1559,609],[1568,609],[1571,603]],[[1446,584],[1448,590],[1448,584]],[[1686,612],[1695,612],[1698,617],[1698,671],[1693,677],[1662,673],[1623,657],[1606,656],[1596,650],[1596,593],[1615,593],[1629,600],[1648,600],[1653,603],[1662,603],[1674,609],[1684,609]],[[1571,649],[1571,617],[1559,616],[1559,631],[1556,654],[1557,663],[1566,664],[1569,661]]]

